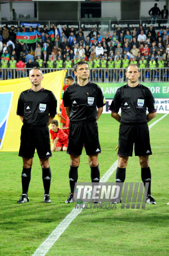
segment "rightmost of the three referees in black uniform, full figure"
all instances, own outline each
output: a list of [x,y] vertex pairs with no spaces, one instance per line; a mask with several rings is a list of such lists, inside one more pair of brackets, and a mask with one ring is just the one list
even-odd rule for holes
[[[150,147],[149,128],[147,123],[156,116],[154,97],[144,85],[138,83],[140,77],[139,67],[130,64],[126,68],[128,84],[116,91],[111,103],[111,116],[120,124],[118,168],[116,182],[124,182],[128,157],[132,156],[133,144],[135,156],[139,157],[142,181],[149,182],[147,203],[156,204],[151,196],[151,172],[149,167],[149,155],[152,155]],[[121,116],[118,114],[121,107]],[[148,108],[149,114],[146,115]]]

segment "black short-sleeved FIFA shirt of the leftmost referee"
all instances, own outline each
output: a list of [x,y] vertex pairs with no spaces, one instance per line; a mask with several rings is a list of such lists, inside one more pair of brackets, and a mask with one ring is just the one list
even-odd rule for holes
[[23,122],[31,126],[46,126],[49,114],[55,115],[57,100],[53,92],[42,88],[38,92],[31,89],[19,95],[17,115],[24,116]]

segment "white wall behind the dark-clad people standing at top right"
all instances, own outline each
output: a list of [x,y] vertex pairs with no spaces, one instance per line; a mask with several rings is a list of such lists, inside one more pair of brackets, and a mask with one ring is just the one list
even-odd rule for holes
[[[157,7],[159,7],[160,10],[164,9],[164,5],[166,5],[166,1],[147,1],[147,0],[141,0],[140,4],[140,16],[141,17],[149,17],[149,10],[154,7],[155,3],[157,3]],[[168,8],[167,8],[168,9]],[[161,16],[160,16],[161,18]]]

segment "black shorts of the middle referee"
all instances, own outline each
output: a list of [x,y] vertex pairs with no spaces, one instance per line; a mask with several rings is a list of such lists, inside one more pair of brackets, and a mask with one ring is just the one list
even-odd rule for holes
[[69,123],[67,154],[81,155],[83,145],[88,156],[101,153],[97,122]]

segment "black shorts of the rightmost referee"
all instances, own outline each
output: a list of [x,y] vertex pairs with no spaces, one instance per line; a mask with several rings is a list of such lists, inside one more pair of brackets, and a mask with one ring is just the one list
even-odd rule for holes
[[142,125],[124,125],[119,128],[119,156],[132,156],[133,145],[135,156],[152,155],[150,147],[149,127],[147,123]]

